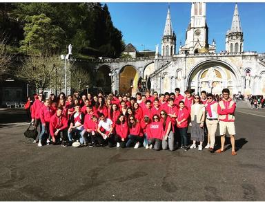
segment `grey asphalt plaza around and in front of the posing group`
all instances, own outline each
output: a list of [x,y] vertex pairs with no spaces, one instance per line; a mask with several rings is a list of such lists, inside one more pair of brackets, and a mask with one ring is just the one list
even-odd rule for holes
[[242,101],[237,156],[230,144],[224,154],[37,147],[25,143],[25,118],[0,110],[0,201],[265,201],[265,110]]

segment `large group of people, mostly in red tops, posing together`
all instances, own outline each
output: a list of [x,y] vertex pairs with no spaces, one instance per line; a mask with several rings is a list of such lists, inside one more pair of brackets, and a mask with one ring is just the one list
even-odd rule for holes
[[[146,149],[206,149],[224,152],[226,129],[230,135],[232,155],[235,151],[235,102],[229,89],[223,89],[222,100],[202,91],[193,95],[186,90],[151,95],[66,95],[54,94],[43,100],[43,93],[35,96],[29,108],[32,123],[40,127],[35,143],[70,146],[78,141],[89,147],[145,147]],[[29,101],[30,102],[30,101]],[[215,134],[219,124],[221,148],[215,148]],[[190,136],[188,127],[190,126]],[[190,140],[192,144],[190,145]]]

